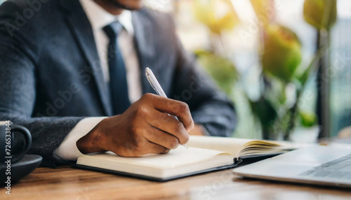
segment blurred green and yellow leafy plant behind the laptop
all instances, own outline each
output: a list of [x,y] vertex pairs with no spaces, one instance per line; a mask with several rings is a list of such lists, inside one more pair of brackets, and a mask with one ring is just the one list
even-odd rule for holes
[[[307,69],[297,74],[296,69],[301,63],[301,43],[298,36],[291,29],[274,22],[267,12],[267,6],[272,8],[271,0],[251,0],[251,3],[258,17],[266,17],[261,24],[262,49],[258,50],[264,81],[261,97],[256,101],[249,99],[251,109],[261,124],[264,138],[274,139],[280,133],[284,139],[289,139],[296,123],[303,127],[311,127],[317,123],[317,115],[299,110],[298,103],[308,78],[317,71],[318,61],[325,48],[320,48]],[[304,17],[317,29],[330,29],[336,21],[336,1],[305,0]],[[288,85],[294,85],[296,89],[296,99],[292,105],[286,101]]]

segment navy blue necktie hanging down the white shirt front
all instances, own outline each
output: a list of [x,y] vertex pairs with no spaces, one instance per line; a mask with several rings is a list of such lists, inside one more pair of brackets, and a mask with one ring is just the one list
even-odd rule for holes
[[119,50],[117,36],[123,29],[119,22],[112,22],[103,28],[110,44],[107,49],[107,61],[110,68],[110,87],[113,114],[119,115],[131,106],[128,98],[128,85],[124,60]]

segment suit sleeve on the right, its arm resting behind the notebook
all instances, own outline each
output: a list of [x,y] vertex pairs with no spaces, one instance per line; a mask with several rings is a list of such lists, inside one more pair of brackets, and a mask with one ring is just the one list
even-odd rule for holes
[[173,28],[178,54],[173,77],[173,99],[190,106],[196,124],[202,124],[211,136],[232,136],[237,117],[233,104],[201,70],[194,57],[185,51]]

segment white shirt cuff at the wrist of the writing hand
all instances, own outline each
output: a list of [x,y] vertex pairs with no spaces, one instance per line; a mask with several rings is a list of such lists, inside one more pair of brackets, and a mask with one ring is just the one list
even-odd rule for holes
[[53,152],[53,156],[65,160],[76,160],[83,155],[77,148],[77,141],[88,134],[98,123],[107,117],[86,117],[69,132],[60,146]]

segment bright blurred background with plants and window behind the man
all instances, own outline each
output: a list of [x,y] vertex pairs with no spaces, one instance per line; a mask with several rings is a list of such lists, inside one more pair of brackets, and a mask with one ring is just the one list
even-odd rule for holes
[[[0,4],[4,0],[0,0]],[[350,0],[145,0],[234,102],[234,137],[312,142],[351,125]]]

